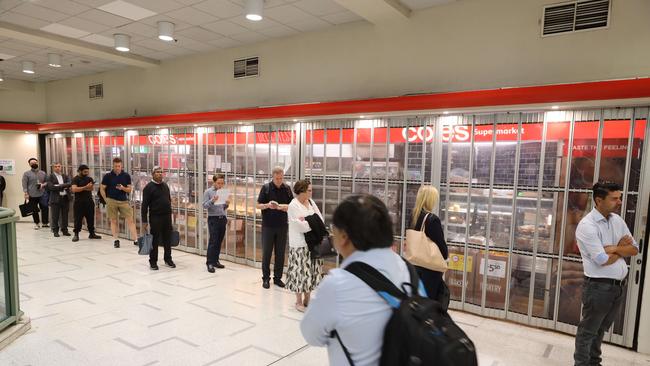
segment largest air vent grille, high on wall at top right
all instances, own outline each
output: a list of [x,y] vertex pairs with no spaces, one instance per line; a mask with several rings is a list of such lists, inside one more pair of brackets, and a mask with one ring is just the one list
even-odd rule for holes
[[609,26],[611,0],[573,1],[544,7],[542,35],[573,33]]

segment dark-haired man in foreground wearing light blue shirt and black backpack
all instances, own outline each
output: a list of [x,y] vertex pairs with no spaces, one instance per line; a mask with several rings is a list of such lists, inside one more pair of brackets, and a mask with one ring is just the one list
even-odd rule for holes
[[391,249],[393,224],[381,200],[343,200],[332,237],[344,260],[323,279],[300,324],[307,343],[328,347],[330,365],[478,364],[469,338]]

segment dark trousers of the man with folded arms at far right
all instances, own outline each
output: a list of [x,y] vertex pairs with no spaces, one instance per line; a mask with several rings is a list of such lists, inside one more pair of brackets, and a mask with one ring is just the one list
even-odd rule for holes
[[575,366],[600,365],[600,345],[625,299],[624,287],[585,279],[582,319],[576,333]]

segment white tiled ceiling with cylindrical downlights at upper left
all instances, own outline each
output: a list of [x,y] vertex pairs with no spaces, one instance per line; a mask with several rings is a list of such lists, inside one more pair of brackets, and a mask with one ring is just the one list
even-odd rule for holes
[[[378,0],[379,1],[379,0]],[[454,0],[401,0],[413,10]],[[131,36],[131,53],[156,60],[236,47],[364,21],[335,0],[266,0],[264,19],[244,18],[245,0],[0,0],[0,21],[113,47],[113,34]],[[116,15],[120,14],[120,15]],[[137,20],[136,20],[137,19]],[[176,25],[177,42],[158,40],[157,22]],[[63,55],[61,68],[47,66],[47,53]],[[125,67],[0,37],[0,62],[6,78],[52,81]],[[21,71],[23,60],[36,74]],[[87,61],[87,62],[83,62]]]

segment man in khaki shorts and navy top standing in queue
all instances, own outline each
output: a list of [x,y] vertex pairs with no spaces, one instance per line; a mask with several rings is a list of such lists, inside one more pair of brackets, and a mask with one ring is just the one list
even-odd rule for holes
[[[117,224],[117,220],[120,215],[124,217],[131,236],[134,238],[138,236],[135,221],[133,220],[133,209],[129,205],[127,197],[133,190],[131,176],[122,170],[122,159],[113,159],[113,170],[104,175],[100,189],[102,196],[106,200],[108,218],[111,220],[113,246],[119,248],[120,240],[117,235],[119,234],[120,227]],[[138,242],[134,241],[133,244],[138,245]]]

